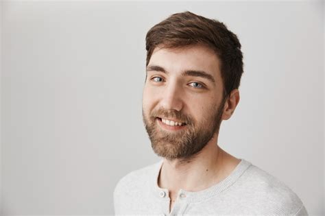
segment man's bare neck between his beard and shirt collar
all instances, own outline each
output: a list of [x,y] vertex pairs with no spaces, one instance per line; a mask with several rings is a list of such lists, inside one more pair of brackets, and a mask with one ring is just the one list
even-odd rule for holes
[[220,182],[239,163],[217,145],[217,134],[209,141],[202,151],[190,159],[173,159],[163,161],[158,185],[177,193],[186,191],[202,191]]

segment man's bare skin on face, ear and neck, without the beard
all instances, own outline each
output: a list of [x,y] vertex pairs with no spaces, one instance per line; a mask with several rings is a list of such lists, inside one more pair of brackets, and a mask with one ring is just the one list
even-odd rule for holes
[[[152,70],[152,66],[162,67],[167,73]],[[181,75],[186,70],[204,71],[215,82],[206,77]],[[198,84],[203,84],[204,88],[197,88],[200,87]],[[223,89],[220,61],[213,50],[203,45],[178,49],[158,47],[147,65],[147,79],[143,89],[144,118],[149,119],[153,110],[163,108],[191,116],[197,127],[210,127],[210,121],[214,121],[209,119],[211,113],[222,106]],[[230,119],[238,103],[239,91],[234,89],[221,107],[221,121]],[[164,134],[177,136],[180,132],[163,128],[158,121],[154,123]],[[186,130],[186,126],[182,130]],[[169,190],[170,211],[180,189],[207,189],[224,180],[240,162],[217,145],[218,135],[219,131],[216,131],[203,149],[189,158],[164,158],[158,186]]]

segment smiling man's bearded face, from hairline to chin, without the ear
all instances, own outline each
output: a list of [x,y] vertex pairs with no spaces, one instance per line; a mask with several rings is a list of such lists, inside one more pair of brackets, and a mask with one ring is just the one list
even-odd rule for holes
[[224,110],[217,55],[195,45],[156,48],[147,65],[143,121],[158,156],[190,158],[219,132]]

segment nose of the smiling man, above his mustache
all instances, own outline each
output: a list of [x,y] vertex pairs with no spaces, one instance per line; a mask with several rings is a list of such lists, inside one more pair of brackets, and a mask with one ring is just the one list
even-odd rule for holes
[[177,110],[180,111],[183,108],[182,89],[177,83],[169,83],[163,91],[161,96],[161,106],[165,110]]

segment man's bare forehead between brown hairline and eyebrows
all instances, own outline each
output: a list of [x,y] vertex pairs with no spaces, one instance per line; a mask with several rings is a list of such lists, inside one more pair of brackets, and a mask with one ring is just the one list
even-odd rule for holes
[[163,67],[171,73],[197,70],[206,71],[216,78],[220,77],[220,61],[217,54],[203,45],[173,49],[157,47],[149,60],[148,66],[150,65]]

